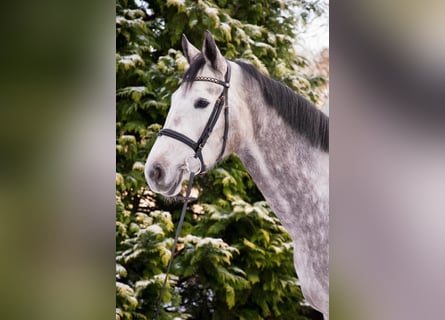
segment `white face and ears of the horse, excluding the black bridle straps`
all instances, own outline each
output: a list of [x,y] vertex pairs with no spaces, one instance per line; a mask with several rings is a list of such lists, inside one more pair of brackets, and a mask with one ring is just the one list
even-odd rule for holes
[[[201,54],[185,37],[182,46],[189,63]],[[223,80],[227,68],[226,61],[208,33],[204,40],[202,54],[206,63],[199,71],[199,75]],[[206,81],[196,81],[191,86],[183,83],[172,95],[171,107],[164,128],[177,131],[196,142],[222,90],[221,85]],[[215,164],[221,151],[223,134],[224,116],[221,115],[202,149],[206,167]],[[145,164],[145,178],[150,188],[165,196],[179,193],[182,182],[189,175],[187,162],[189,165],[191,162],[193,165],[199,163],[198,160],[193,159],[194,155],[195,152],[185,143],[168,136],[159,136]]]

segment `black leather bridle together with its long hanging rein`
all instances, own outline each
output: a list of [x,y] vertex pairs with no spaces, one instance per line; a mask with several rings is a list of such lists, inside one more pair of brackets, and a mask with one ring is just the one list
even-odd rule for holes
[[192,148],[193,151],[195,151],[194,158],[199,160],[200,165],[199,165],[199,168],[196,171],[194,171],[191,168],[191,165],[189,164],[189,162],[186,160],[187,170],[190,172],[190,177],[189,177],[189,181],[187,184],[187,190],[185,192],[185,197],[183,198],[184,204],[182,206],[181,217],[179,218],[178,227],[176,229],[175,239],[173,241],[173,248],[172,248],[170,260],[169,260],[168,266],[167,266],[167,272],[165,273],[164,283],[162,285],[161,293],[159,294],[158,301],[156,303],[156,311],[155,311],[153,320],[157,320],[159,317],[160,307],[161,307],[161,303],[162,303],[162,297],[164,295],[165,289],[167,288],[167,279],[168,279],[168,275],[170,273],[171,266],[173,264],[173,258],[176,253],[176,246],[178,244],[179,234],[181,233],[182,225],[184,223],[185,212],[187,210],[187,204],[191,200],[190,192],[192,191],[193,180],[196,175],[203,174],[206,172],[204,159],[202,157],[202,149],[204,148],[205,144],[207,143],[207,140],[209,139],[210,134],[212,133],[212,131],[216,125],[216,122],[219,119],[219,116],[221,114],[223,107],[224,107],[223,143],[222,143],[221,151],[218,155],[216,162],[221,160],[221,158],[224,154],[224,151],[226,150],[227,135],[229,132],[229,106],[228,106],[229,98],[228,98],[228,94],[229,94],[229,87],[230,87],[230,64],[229,64],[229,62],[227,62],[227,71],[226,71],[226,74],[224,77],[224,81],[221,81],[221,80],[218,80],[215,78],[199,77],[199,76],[195,77],[195,79],[193,81],[207,81],[207,82],[215,83],[215,84],[223,86],[224,89],[221,92],[221,94],[219,95],[218,99],[216,100],[215,106],[213,107],[213,110],[212,110],[212,113],[210,114],[209,120],[207,120],[207,124],[204,127],[204,130],[202,131],[201,136],[199,137],[198,141],[195,142],[192,139],[190,139],[189,137],[187,137],[186,135],[184,135],[178,131],[171,130],[171,129],[162,129],[158,133],[158,135],[160,135],[160,136],[164,135],[164,136],[176,139],[178,141],[181,141],[182,143],[184,143],[187,146],[189,146],[190,148]]

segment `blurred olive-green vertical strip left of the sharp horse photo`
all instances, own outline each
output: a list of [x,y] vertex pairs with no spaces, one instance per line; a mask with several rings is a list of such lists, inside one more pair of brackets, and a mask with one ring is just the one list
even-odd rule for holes
[[115,6],[1,10],[0,317],[114,317]]

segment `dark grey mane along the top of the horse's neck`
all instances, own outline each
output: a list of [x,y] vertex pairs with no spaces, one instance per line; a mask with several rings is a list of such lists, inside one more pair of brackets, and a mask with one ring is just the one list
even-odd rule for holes
[[243,71],[256,80],[267,104],[311,145],[329,152],[329,118],[312,103],[293,92],[289,87],[273,80],[253,65],[235,61]]

